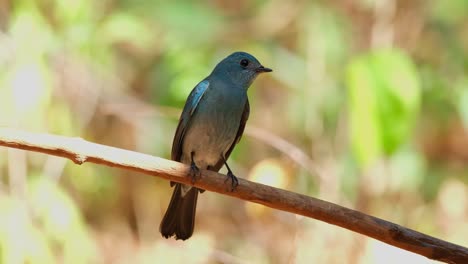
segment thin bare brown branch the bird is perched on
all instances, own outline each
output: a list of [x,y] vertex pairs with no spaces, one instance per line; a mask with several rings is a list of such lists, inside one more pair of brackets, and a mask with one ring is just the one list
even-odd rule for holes
[[[0,146],[60,156],[76,164],[103,164],[191,184],[191,178],[187,177],[189,167],[182,163],[99,145],[81,138],[0,128]],[[330,202],[244,179],[239,179],[239,186],[231,192],[230,185],[225,184],[224,179],[222,174],[203,171],[194,185],[341,226],[430,259],[447,263],[468,263],[468,248]]]

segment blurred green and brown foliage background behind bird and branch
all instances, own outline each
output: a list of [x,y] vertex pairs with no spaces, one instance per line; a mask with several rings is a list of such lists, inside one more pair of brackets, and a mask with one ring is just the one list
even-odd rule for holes
[[[236,175],[468,246],[468,1],[0,0],[0,126],[170,157],[190,90],[233,51]],[[221,172],[225,172],[223,169]],[[0,148],[1,263],[432,263],[206,192],[163,239],[155,177]]]

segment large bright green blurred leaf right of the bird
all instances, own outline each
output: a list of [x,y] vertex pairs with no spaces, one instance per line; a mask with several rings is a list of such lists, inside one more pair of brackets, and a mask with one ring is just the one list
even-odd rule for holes
[[398,50],[356,58],[347,71],[351,145],[362,166],[393,154],[411,135],[421,85],[410,58]]

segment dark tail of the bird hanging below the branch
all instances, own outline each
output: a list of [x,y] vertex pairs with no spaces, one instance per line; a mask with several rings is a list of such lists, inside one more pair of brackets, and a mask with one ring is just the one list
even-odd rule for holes
[[182,184],[175,184],[171,202],[166,210],[159,231],[165,238],[175,235],[176,239],[186,240],[193,234],[198,189],[195,187],[182,195]]

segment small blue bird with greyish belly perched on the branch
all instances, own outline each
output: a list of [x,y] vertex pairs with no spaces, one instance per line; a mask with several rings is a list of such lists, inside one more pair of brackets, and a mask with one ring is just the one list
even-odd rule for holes
[[[192,183],[200,170],[228,170],[231,191],[238,179],[227,164],[249,118],[247,90],[258,75],[271,72],[251,54],[238,51],[219,62],[190,92],[172,143],[171,159],[190,165]],[[171,200],[159,230],[165,238],[186,240],[193,234],[198,193],[204,190],[171,182]]]

